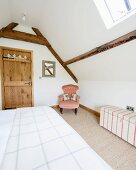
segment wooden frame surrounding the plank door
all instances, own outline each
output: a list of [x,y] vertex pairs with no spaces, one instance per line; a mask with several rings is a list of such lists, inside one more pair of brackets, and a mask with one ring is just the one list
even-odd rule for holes
[[33,72],[33,51],[25,50],[19,48],[5,47],[0,46],[0,81],[1,81],[1,99],[2,99],[2,110],[5,110],[5,99],[4,99],[4,81],[3,81],[3,58],[2,58],[2,50],[14,50],[14,51],[22,51],[31,53],[31,80],[32,80],[32,106],[34,106],[34,72]]

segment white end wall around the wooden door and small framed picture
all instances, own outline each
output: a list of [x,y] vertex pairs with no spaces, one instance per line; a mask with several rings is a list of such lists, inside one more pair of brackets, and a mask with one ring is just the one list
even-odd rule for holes
[[[73,79],[58,63],[49,50],[42,45],[0,39],[0,46],[27,49],[33,51],[33,71],[34,71],[34,105],[56,105],[58,103],[58,96],[62,94],[62,85],[75,84]],[[56,62],[56,76],[55,78],[40,78],[42,77],[42,60],[49,60]],[[1,83],[0,83],[1,84]],[[0,90],[1,93],[1,90]],[[0,109],[1,109],[1,94],[0,94]]]

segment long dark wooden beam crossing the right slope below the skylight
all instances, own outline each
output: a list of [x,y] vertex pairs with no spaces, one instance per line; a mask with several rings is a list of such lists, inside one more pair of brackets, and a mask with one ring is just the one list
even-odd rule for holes
[[110,42],[108,42],[108,43],[106,43],[104,45],[96,47],[96,48],[92,49],[89,52],[86,52],[86,53],[84,53],[82,55],[74,57],[74,58],[66,61],[64,64],[69,65],[69,64],[81,61],[83,59],[92,57],[92,56],[94,56],[96,54],[102,53],[104,51],[107,51],[107,50],[112,49],[114,47],[117,47],[119,45],[125,44],[125,43],[127,43],[129,41],[132,41],[134,39],[136,39],[136,30],[134,30],[134,31],[132,31],[132,32],[126,34],[126,35],[123,35],[123,36],[121,36],[121,37],[119,37],[119,38],[117,38],[117,39],[115,39],[113,41],[110,41]]

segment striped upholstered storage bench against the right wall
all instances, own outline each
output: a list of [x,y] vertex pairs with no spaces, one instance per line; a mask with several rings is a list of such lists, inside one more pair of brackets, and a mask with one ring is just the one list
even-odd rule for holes
[[104,106],[100,111],[100,126],[136,146],[136,112]]

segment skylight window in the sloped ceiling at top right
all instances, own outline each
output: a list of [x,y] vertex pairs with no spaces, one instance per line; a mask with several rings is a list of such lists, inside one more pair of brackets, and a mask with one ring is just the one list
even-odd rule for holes
[[136,13],[136,0],[94,0],[94,2],[107,29]]

